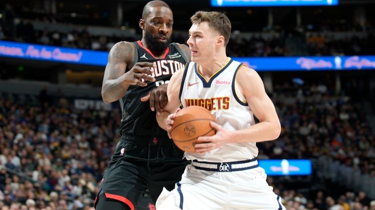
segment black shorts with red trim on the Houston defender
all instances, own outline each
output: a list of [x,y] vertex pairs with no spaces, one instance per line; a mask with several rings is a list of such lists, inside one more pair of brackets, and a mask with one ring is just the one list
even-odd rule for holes
[[[146,189],[153,202],[181,180],[187,161],[168,137],[122,136],[105,170],[98,195],[120,200],[134,210]],[[98,196],[95,200],[97,204]]]

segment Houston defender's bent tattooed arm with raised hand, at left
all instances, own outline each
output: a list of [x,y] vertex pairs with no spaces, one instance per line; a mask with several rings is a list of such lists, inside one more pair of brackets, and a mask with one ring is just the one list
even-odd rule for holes
[[118,42],[109,51],[102,85],[102,98],[105,103],[111,103],[122,98],[129,85],[146,86],[147,83],[142,82],[142,78],[148,81],[155,80],[155,78],[148,76],[152,74],[150,67],[154,67],[149,62],[135,63],[126,72],[126,67],[131,65],[133,58],[134,45],[129,42]]

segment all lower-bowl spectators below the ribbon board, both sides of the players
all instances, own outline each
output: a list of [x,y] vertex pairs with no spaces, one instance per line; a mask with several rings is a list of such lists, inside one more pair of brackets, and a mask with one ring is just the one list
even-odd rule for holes
[[[363,109],[329,90],[324,84],[276,85],[271,98],[282,133],[258,144],[258,158],[329,156],[375,179],[375,138]],[[119,110],[82,111],[34,101],[0,99],[0,210],[92,208],[120,137]],[[335,197],[333,189],[311,195],[273,184],[272,177],[269,182],[288,210],[375,210],[375,201],[358,189]]]

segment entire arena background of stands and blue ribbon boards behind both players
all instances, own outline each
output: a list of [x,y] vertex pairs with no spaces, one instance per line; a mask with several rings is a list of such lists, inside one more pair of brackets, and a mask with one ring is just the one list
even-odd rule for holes
[[[118,41],[141,38],[146,2],[0,0],[1,210],[92,208],[119,139],[118,103],[101,100],[103,65],[41,59],[42,48],[106,55]],[[282,133],[257,144],[258,158],[312,163],[310,175],[269,176],[288,210],[375,210],[374,0],[222,8],[208,0],[166,2],[172,41],[186,43],[197,10],[222,11],[232,22],[228,55],[249,58],[250,66],[268,62],[254,68]],[[17,57],[15,44],[39,54]],[[301,57],[306,65],[296,65]],[[154,206],[145,195],[137,209]]]

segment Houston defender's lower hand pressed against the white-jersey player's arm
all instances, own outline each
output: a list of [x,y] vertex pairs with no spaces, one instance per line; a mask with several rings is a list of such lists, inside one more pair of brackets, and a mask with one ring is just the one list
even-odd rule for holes
[[152,111],[163,112],[164,107],[168,103],[167,84],[160,85],[141,98],[141,101],[147,100],[150,101],[150,109]]

